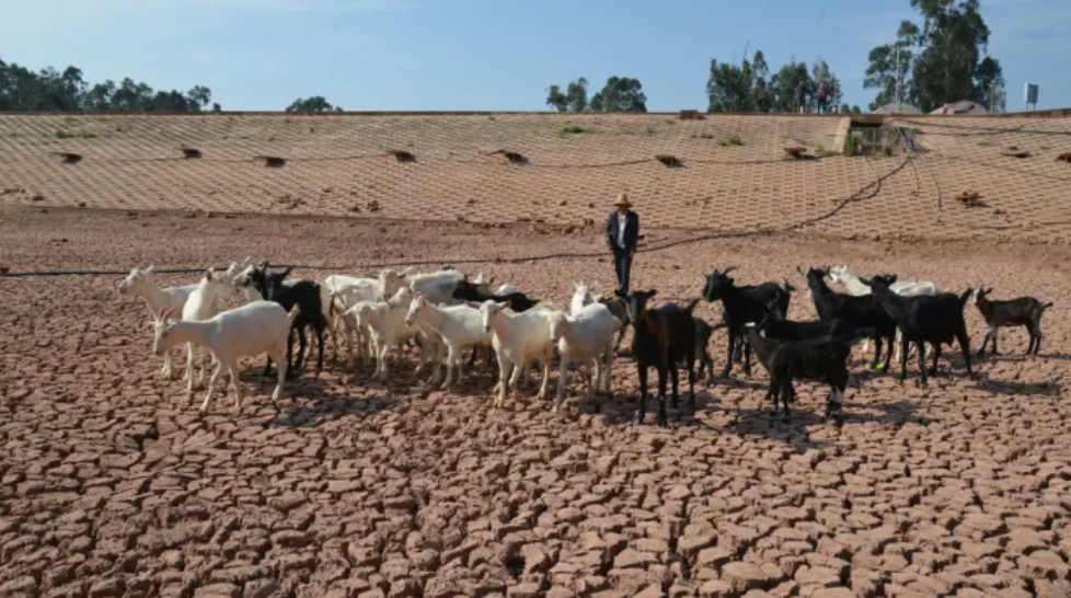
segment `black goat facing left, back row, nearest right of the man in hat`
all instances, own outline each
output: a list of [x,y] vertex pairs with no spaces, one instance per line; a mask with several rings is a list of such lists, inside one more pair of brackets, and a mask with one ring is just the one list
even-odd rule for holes
[[792,286],[787,281],[785,288],[776,283],[737,287],[728,276],[733,269],[728,267],[718,272],[715,268],[706,276],[706,284],[703,286],[703,298],[710,302],[721,300],[722,307],[725,308],[722,318],[728,327],[729,341],[722,378],[727,378],[733,369],[733,357],[738,344],[742,345],[744,349],[744,373],[751,375],[751,347],[747,345],[744,337],[744,324],[761,321],[765,314],[765,304],[770,301],[782,306],[782,310],[787,312],[788,301],[792,298]]

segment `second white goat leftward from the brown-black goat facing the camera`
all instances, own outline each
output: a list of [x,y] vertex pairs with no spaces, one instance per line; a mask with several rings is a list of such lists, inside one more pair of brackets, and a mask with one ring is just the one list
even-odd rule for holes
[[544,399],[550,381],[551,359],[554,356],[550,326],[551,312],[532,308],[523,313],[515,313],[508,309],[509,301],[499,303],[487,300],[483,303],[469,303],[469,307],[480,308],[484,330],[494,335],[492,346],[498,357],[495,406],[502,406],[508,388],[513,388],[515,395],[520,396],[517,382],[525,366],[531,361],[538,361],[543,366],[543,382],[536,396]]

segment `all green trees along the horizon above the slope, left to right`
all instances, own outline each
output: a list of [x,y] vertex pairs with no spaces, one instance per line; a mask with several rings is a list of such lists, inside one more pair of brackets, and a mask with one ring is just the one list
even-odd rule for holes
[[[979,12],[980,0],[910,0],[921,25],[900,23],[896,39],[871,49],[863,87],[876,90],[870,110],[899,99],[930,112],[945,102],[967,100],[1003,112],[1006,106],[1000,61],[987,55],[989,27]],[[762,50],[739,62],[711,59],[706,80],[709,112],[815,112],[820,106],[842,113],[862,112],[841,103],[840,80],[821,58],[810,68],[795,58],[772,72]],[[39,112],[201,112],[211,91],[195,85],[182,93],[154,91],[130,78],[90,85],[77,67],[38,72],[0,60],[0,111]],[[551,85],[546,105],[562,113],[646,112],[643,84],[629,77],[610,77],[588,96],[580,77]],[[212,104],[212,110],[221,110]],[[295,100],[286,112],[342,112],[322,95]]]

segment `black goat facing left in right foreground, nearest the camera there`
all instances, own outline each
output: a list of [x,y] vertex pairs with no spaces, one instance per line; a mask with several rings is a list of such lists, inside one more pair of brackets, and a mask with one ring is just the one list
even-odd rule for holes
[[781,396],[781,418],[788,418],[788,403],[796,401],[794,378],[815,380],[829,384],[826,395],[827,419],[832,418],[838,426],[844,423],[844,389],[848,388],[848,358],[852,345],[844,338],[822,336],[805,341],[783,341],[767,338],[759,334],[753,323],[747,326],[748,343],[755,347],[759,361],[770,375],[767,396],[773,400],[773,411],[778,414],[778,396]]

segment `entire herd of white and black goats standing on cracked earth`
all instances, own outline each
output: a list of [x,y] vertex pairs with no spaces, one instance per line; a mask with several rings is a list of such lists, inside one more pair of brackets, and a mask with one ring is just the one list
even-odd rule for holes
[[[312,343],[306,333],[311,329],[316,350],[316,375],[323,368],[325,340],[333,345],[338,359],[338,337],[346,344],[350,366],[357,359],[375,360],[375,373],[388,377],[392,350],[400,354],[406,346],[419,347],[416,371],[430,368],[428,383],[451,388],[463,376],[463,352],[472,349],[469,365],[483,352],[483,367],[492,360],[498,365],[495,405],[500,405],[510,389],[519,393],[519,382],[529,367],[542,368],[538,396],[548,395],[550,368],[558,359],[560,373],[554,399],[556,411],[565,393],[569,365],[584,371],[586,396],[598,391],[611,392],[610,370],[626,327],[632,327],[632,358],[640,378],[636,422],[645,416],[647,375],[658,375],[659,426],[667,425],[666,386],[671,382],[671,402],[679,400],[680,369],[688,371],[689,406],[694,409],[696,378],[706,371],[706,383],[714,379],[713,361],[707,353],[714,330],[728,332],[725,367],[728,377],[734,361],[744,361],[750,373],[751,352],[770,377],[767,398],[772,401],[771,416],[788,416],[788,404],[795,399],[793,380],[805,379],[829,384],[825,416],[837,425],[843,422],[843,395],[848,386],[848,360],[859,341],[874,342],[871,367],[888,369],[894,350],[900,360],[902,382],[907,376],[909,352],[918,353],[920,382],[936,375],[943,344],[959,346],[968,376],[969,335],[964,322],[964,307],[972,302],[986,320],[987,331],[979,354],[992,341],[997,353],[997,332],[1003,326],[1025,326],[1029,333],[1027,353],[1040,349],[1043,312],[1052,303],[1033,297],[1006,301],[989,299],[990,288],[967,289],[961,295],[938,291],[933,283],[898,281],[896,276],[876,275],[870,279],[853,276],[847,266],[799,271],[807,280],[818,320],[794,322],[786,319],[792,291],[783,285],[764,283],[738,286],[729,276],[733,268],[715,269],[706,276],[701,298],[684,306],[648,303],[655,290],[615,292],[596,297],[586,285],[574,285],[568,311],[532,299],[511,285],[491,289],[494,277],[482,274],[469,280],[467,275],[445,269],[413,274],[384,269],[378,277],[332,275],[322,281],[290,279],[291,268],[269,272],[266,261],[246,258],[224,271],[208,271],[194,285],[160,288],[153,280],[152,266],[134,268],[119,285],[119,292],[141,297],[154,317],[153,352],[163,357],[162,375],[174,378],[171,349],[186,345],[186,383],[189,392],[204,384],[208,355],[215,371],[200,411],[207,410],[219,377],[224,369],[234,388],[235,410],[241,405],[238,383],[238,359],[267,354],[265,376],[276,363],[278,382],[273,398],[278,398],[285,380],[302,370],[307,349]],[[848,291],[838,292],[827,284],[839,284]],[[221,310],[230,295],[244,294],[247,302]],[[692,314],[705,299],[721,301],[723,321],[712,326]],[[293,357],[293,336],[298,353]],[[933,365],[925,368],[925,346],[933,349]],[[885,363],[880,364],[883,345]],[[200,376],[195,383],[197,350],[200,349]],[[864,346],[864,350],[866,347]],[[699,370],[695,363],[699,361]],[[442,369],[446,369],[445,377]],[[779,405],[780,401],[780,405]]]

